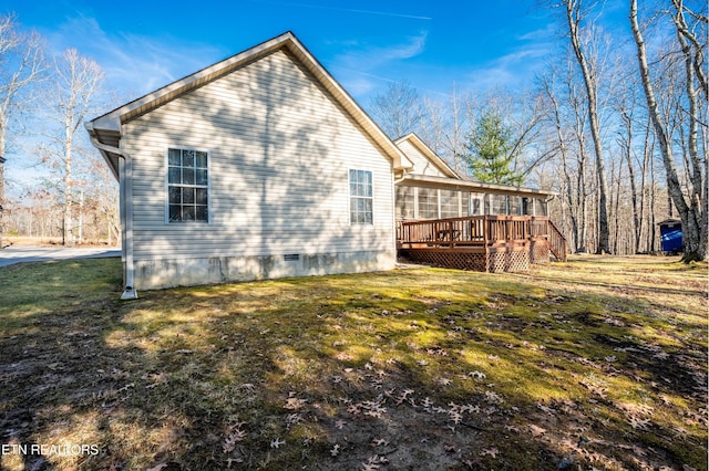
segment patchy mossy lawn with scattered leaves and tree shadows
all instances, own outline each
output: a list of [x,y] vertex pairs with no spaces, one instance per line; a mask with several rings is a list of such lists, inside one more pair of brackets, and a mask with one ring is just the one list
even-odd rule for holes
[[707,264],[140,292],[0,269],[0,468],[707,470]]

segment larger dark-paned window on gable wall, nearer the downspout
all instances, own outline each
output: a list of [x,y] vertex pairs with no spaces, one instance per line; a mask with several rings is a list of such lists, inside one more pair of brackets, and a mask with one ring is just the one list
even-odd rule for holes
[[167,221],[209,222],[208,153],[167,150]]

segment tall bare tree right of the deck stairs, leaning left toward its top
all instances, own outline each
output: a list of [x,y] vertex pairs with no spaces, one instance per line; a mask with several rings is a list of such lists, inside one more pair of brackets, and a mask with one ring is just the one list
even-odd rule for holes
[[598,118],[598,57],[593,56],[593,53],[588,52],[589,50],[593,51],[593,38],[588,36],[588,42],[586,44],[582,43],[582,21],[584,21],[586,15],[582,0],[562,0],[562,4],[564,6],[566,13],[566,23],[574,54],[576,55],[578,66],[580,67],[586,88],[586,98],[588,101],[588,123],[596,154],[596,176],[598,180],[598,247],[596,252],[609,253],[610,247],[607,208],[608,184],[606,181],[603,139]]

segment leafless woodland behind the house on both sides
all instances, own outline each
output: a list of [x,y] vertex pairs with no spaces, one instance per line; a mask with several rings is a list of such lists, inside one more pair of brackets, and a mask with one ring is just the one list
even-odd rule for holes
[[[390,137],[415,132],[479,178],[491,163],[481,133],[494,135],[504,171],[491,181],[555,191],[551,216],[574,252],[656,252],[657,223],[677,218],[685,258],[706,259],[707,3],[628,0],[626,36],[597,23],[603,3],[537,8],[555,15],[558,49],[528,90],[454,83],[441,100],[398,77],[362,106]],[[105,90],[92,59],[47,51],[38,33],[0,17],[0,247],[7,236],[115,243],[117,182],[83,122],[127,100]],[[32,156],[42,180],[7,190],[8,154]]]

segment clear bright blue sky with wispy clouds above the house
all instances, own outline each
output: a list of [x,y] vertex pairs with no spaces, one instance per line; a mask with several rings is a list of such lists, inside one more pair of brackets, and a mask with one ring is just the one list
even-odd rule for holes
[[151,92],[292,31],[362,105],[407,80],[422,95],[531,85],[559,40],[535,0],[203,2],[6,0],[55,52],[97,61],[121,96]]

